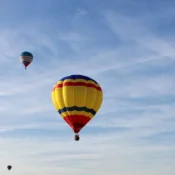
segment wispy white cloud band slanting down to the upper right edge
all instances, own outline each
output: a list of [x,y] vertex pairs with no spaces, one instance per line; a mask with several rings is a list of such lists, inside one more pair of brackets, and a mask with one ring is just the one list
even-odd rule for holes
[[135,40],[139,45],[155,51],[159,56],[174,57],[173,45],[163,38],[153,35],[149,28],[143,24],[144,20],[142,18],[133,19],[114,12],[109,12],[105,17],[111,30],[122,39]]

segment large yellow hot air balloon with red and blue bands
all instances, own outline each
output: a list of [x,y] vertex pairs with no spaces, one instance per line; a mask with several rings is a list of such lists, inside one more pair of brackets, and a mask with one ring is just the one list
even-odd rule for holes
[[84,75],[62,78],[52,88],[52,102],[79,140],[80,130],[95,116],[103,100],[100,85]]

